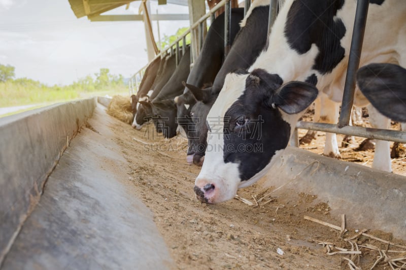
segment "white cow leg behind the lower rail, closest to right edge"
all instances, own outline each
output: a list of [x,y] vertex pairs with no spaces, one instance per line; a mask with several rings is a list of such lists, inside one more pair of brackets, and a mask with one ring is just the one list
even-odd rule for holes
[[[390,119],[384,117],[372,105],[368,105],[369,123],[373,128],[389,129]],[[389,141],[376,140],[375,155],[372,167],[378,170],[392,172],[390,163],[390,147]]]

